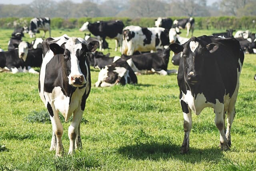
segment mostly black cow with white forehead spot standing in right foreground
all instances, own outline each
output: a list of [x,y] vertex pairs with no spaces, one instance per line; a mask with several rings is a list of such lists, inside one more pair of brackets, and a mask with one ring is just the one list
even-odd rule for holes
[[[181,152],[187,153],[189,150],[191,111],[199,115],[205,107],[214,108],[221,150],[228,150],[244,61],[239,42],[234,38],[200,36],[190,38],[183,45],[171,44],[170,48],[176,54],[182,52],[177,76],[185,132]],[[224,121],[226,112],[227,127]]]

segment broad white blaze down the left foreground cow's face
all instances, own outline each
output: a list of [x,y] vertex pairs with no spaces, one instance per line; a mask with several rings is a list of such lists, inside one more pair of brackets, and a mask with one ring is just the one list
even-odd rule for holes
[[86,84],[86,79],[84,77],[84,74],[82,74],[81,72],[81,69],[79,66],[79,60],[76,56],[76,51],[78,49],[80,50],[82,49],[82,43],[78,40],[78,38],[73,37],[67,41],[67,43],[65,44],[65,48],[70,52],[70,63],[71,63],[70,74],[68,76],[68,84],[77,86],[74,84],[75,80],[72,79],[77,77],[81,78],[82,84]]

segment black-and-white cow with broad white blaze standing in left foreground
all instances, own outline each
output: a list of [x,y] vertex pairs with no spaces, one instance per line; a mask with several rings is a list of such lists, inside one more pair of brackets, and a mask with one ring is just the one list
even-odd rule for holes
[[57,156],[61,156],[64,151],[61,140],[63,126],[59,112],[65,121],[74,113],[72,123],[68,127],[68,154],[72,154],[75,148],[82,147],[80,122],[91,88],[86,53],[96,50],[98,42],[92,41],[88,44],[82,38],[63,35],[58,38],[47,38],[42,46],[44,59],[38,89],[52,122],[50,150],[56,149]]

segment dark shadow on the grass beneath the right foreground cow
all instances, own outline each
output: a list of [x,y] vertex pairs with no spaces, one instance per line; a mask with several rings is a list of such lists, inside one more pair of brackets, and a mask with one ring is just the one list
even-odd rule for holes
[[187,154],[180,153],[180,145],[167,143],[143,143],[120,147],[118,153],[130,159],[153,160],[178,159],[187,163],[218,162],[223,158],[220,148],[191,148]]

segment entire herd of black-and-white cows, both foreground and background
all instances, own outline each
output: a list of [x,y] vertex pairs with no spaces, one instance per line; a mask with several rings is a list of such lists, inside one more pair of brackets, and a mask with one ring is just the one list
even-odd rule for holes
[[[184,116],[181,152],[189,151],[191,112],[199,115],[205,107],[214,109],[220,147],[226,151],[231,145],[230,129],[235,116],[244,52],[254,52],[255,34],[241,31],[233,37],[234,30],[227,30],[212,36],[179,36],[180,29],[185,28],[187,36],[189,32],[193,34],[194,22],[193,18],[174,21],[158,18],[156,27],[150,28],[125,27],[119,20],[86,22],[79,30],[87,30],[94,37],[77,38],[64,34],[45,40],[36,38],[31,43],[22,41],[26,28],[20,28],[12,33],[8,51],[0,52],[0,68],[12,73],[28,70],[38,74],[31,67],[41,66],[38,89],[52,122],[50,150],[55,150],[57,156],[63,153],[63,126],[59,112],[65,121],[73,114],[68,127],[68,153],[82,147],[80,121],[91,89],[90,66],[100,69],[94,84],[96,87],[137,84],[138,74],[177,74]],[[33,37],[38,30],[50,33],[50,19],[32,19],[29,35]],[[108,48],[108,38],[116,40],[115,50],[118,51],[119,47],[121,56],[100,52]],[[243,42],[250,43],[243,46]],[[98,47],[100,51],[96,51]],[[167,70],[171,50],[174,52],[172,63],[179,65],[178,71]]]

